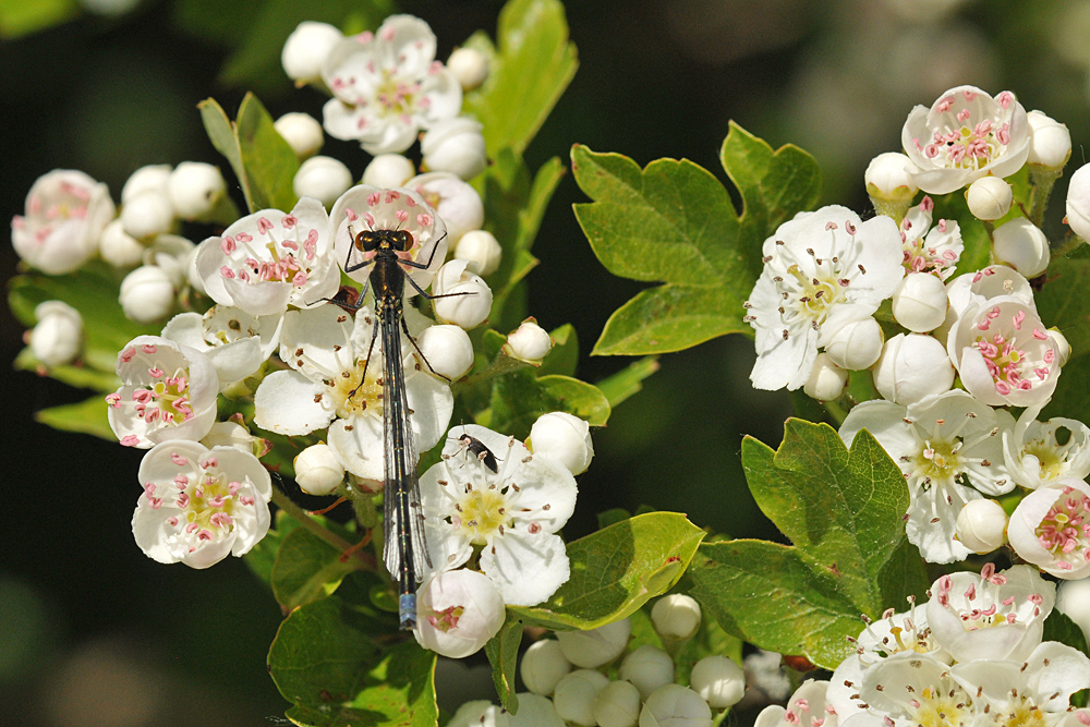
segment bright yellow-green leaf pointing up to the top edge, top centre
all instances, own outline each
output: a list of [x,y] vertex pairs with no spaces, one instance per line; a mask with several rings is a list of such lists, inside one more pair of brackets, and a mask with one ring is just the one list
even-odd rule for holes
[[498,49],[483,33],[465,43],[488,58],[488,78],[462,102],[484,124],[493,158],[505,147],[522,154],[579,66],[558,0],[510,0],[496,37]]

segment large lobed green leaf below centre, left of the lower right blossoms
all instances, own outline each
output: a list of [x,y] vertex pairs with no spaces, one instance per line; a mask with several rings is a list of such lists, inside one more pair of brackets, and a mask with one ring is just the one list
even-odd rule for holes
[[794,546],[701,547],[692,595],[728,631],[833,668],[851,651],[845,637],[859,634],[860,614],[923,596],[930,580],[901,521],[908,488],[869,433],[848,450],[831,426],[788,420],[777,451],[747,437],[742,465],[761,510]]

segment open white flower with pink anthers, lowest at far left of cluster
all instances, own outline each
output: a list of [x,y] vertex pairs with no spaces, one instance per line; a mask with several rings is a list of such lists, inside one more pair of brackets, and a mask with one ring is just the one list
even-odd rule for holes
[[247,452],[164,441],[140,465],[133,535],[147,557],[207,568],[249,553],[269,529],[269,473]]

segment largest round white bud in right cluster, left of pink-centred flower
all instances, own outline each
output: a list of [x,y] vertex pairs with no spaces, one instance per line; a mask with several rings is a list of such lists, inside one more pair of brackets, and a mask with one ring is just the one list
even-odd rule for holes
[[954,364],[946,348],[931,336],[897,334],[874,364],[874,388],[883,399],[906,407],[954,385]]

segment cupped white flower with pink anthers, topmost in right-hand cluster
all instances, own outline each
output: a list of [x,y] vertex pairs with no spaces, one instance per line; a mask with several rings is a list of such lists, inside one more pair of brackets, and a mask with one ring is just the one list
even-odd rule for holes
[[1026,109],[1008,90],[994,99],[976,86],[957,86],[930,109],[917,106],[901,131],[905,153],[929,194],[947,194],[986,174],[1009,177],[1029,154]]

